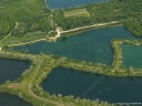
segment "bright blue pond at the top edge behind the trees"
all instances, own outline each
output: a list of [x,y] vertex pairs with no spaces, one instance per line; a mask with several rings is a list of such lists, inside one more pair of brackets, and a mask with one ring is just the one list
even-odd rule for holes
[[50,9],[61,9],[106,1],[108,0],[47,0],[47,3]]

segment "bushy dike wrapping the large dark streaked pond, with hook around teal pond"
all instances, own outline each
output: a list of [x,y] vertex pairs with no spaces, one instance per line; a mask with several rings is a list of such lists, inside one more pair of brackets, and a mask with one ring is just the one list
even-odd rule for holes
[[[101,106],[113,106],[114,104],[106,104],[105,102],[98,103],[95,99],[81,99],[81,98],[74,98],[72,95],[62,97],[61,94],[58,95],[50,95],[49,93],[44,92],[43,88],[40,86],[40,84],[43,82],[44,78],[51,73],[51,71],[59,66],[64,66],[69,68],[74,68],[78,71],[89,72],[89,73],[98,73],[102,75],[109,75],[109,76],[142,76],[141,68],[125,68],[122,65],[122,51],[120,45],[121,44],[135,44],[140,45],[142,44],[142,41],[136,40],[113,40],[112,41],[112,47],[114,50],[114,61],[112,66],[108,66],[105,64],[97,64],[85,61],[79,61],[79,60],[69,60],[67,57],[59,57],[55,55],[44,55],[40,54],[43,59],[43,64],[41,64],[40,71],[37,71],[34,74],[34,78],[32,78],[32,87],[31,91],[34,94],[36,97],[39,99],[43,98],[44,104],[48,103],[45,100],[47,98],[50,100],[55,102],[57,104],[60,104],[59,106],[98,106],[101,104]],[[119,52],[118,52],[119,51]],[[48,64],[48,65],[47,65]],[[93,104],[93,105],[92,105]],[[55,105],[55,104],[54,104]],[[40,105],[39,105],[40,106]]]

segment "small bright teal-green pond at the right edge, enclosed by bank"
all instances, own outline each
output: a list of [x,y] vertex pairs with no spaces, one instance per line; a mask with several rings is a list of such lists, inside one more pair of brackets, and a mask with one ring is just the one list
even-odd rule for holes
[[125,67],[142,67],[142,45],[122,44],[123,65]]

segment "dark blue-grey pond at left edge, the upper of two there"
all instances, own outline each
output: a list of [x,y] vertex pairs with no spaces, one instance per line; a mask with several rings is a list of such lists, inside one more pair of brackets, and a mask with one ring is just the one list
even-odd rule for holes
[[0,59],[0,84],[20,77],[30,65],[29,61]]

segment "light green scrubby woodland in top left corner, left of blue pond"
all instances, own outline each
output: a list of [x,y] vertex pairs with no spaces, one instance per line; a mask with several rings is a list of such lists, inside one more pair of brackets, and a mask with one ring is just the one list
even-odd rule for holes
[[16,36],[34,31],[48,32],[51,30],[49,14],[43,0],[0,0],[0,38],[10,32]]

